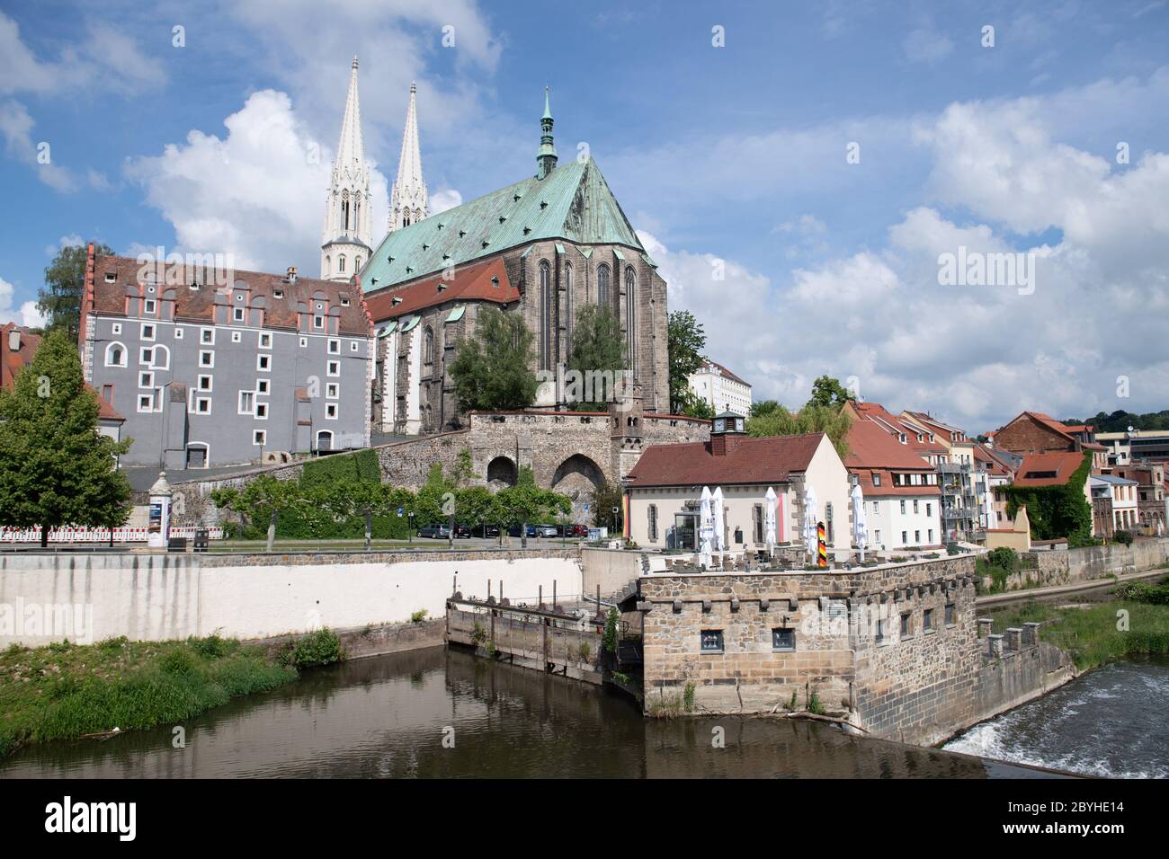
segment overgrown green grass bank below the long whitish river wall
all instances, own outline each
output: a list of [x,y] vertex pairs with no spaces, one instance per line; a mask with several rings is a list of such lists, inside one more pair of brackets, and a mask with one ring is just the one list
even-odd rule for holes
[[[310,656],[319,661],[318,651]],[[0,652],[0,758],[27,742],[189,719],[293,680],[295,663],[284,661],[289,664],[270,659],[258,646],[219,636],[13,645]]]

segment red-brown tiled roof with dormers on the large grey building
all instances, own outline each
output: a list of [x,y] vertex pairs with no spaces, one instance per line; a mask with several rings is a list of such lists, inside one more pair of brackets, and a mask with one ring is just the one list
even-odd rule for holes
[[[223,285],[216,280],[227,279],[227,273],[213,269],[168,263],[162,266],[159,276],[155,266],[122,256],[95,256],[94,295],[91,299],[87,296],[92,306],[84,307],[84,311],[102,316],[126,316],[127,297],[146,297],[146,273],[155,275],[158,298],[173,298],[177,321],[212,324],[216,298],[220,306],[231,306],[230,300],[224,300],[230,298],[224,296],[224,291],[229,291],[235,283],[243,282],[248,285],[250,306],[260,304],[264,310],[265,328],[296,331],[298,314],[311,313],[312,302],[325,299],[328,302],[330,316],[338,318],[339,334],[367,337],[371,333],[371,320],[365,312],[361,290],[355,284],[310,277],[298,277],[290,282],[286,275],[231,270],[227,273],[230,273],[233,283]],[[113,283],[106,282],[108,275],[113,276]],[[191,289],[192,283],[198,283],[200,289]],[[283,292],[283,298],[276,298],[277,290]],[[347,306],[343,306],[341,297],[348,297]]]

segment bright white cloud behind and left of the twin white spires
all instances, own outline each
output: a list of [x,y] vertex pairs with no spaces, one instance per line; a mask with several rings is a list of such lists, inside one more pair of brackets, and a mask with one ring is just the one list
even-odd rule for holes
[[[253,93],[223,124],[226,137],[191,131],[186,143],[127,165],[146,201],[174,226],[174,250],[231,254],[241,269],[316,272],[332,152],[283,92]],[[376,242],[388,213],[386,178],[376,169],[371,192]]]

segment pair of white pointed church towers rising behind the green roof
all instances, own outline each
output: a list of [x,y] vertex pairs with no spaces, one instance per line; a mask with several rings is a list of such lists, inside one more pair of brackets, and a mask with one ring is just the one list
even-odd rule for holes
[[[410,84],[410,104],[402,131],[402,153],[397,179],[389,196],[389,223],[393,233],[430,214],[427,186],[422,181],[422,154],[419,147],[419,119],[415,106],[417,88]],[[373,254],[373,210],[369,205],[369,168],[361,139],[361,102],[358,98],[358,58],[353,57],[350,91],[341,119],[341,138],[333,159],[333,172],[325,194],[325,228],[320,245],[323,280],[348,280]]]

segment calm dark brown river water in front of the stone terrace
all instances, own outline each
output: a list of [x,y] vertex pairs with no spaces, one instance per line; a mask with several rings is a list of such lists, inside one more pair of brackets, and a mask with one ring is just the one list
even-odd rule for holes
[[[455,748],[443,748],[448,726]],[[715,726],[726,748],[711,746]],[[1044,775],[791,720],[646,720],[616,692],[443,647],[310,672],[186,729],[185,749],[171,727],[29,746],[0,777]]]

